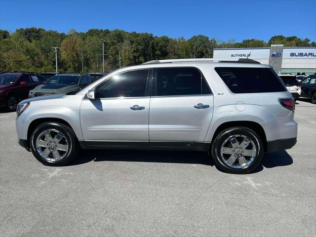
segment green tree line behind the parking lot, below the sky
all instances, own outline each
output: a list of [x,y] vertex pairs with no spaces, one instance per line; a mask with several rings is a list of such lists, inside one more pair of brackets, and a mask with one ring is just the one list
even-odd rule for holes
[[296,36],[273,36],[268,42],[257,39],[236,42],[234,39],[223,41],[203,35],[186,40],[183,37],[172,39],[118,29],[90,29],[86,33],[72,29],[65,34],[32,27],[18,29],[12,34],[0,30],[0,70],[55,71],[55,51],[52,47],[57,46],[60,47],[59,71],[102,72],[100,39],[106,40],[106,72],[117,69],[119,63],[125,67],[158,59],[212,58],[214,48],[269,47],[271,44],[316,46],[315,42]]

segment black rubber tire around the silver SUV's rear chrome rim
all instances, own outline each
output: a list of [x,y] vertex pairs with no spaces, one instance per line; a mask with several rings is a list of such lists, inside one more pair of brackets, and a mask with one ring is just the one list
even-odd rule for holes
[[[233,168],[224,162],[220,153],[221,147],[223,143],[232,135],[247,136],[253,141],[256,147],[256,152],[255,152],[256,155],[253,161],[248,166],[245,166],[242,168]],[[216,163],[219,169],[227,173],[246,174],[252,171],[253,169],[255,169],[261,163],[263,153],[264,153],[264,147],[263,147],[262,140],[260,139],[258,134],[254,132],[253,130],[247,127],[231,127],[231,128],[225,129],[224,131],[222,131],[220,134],[217,135],[217,137],[215,138],[212,144],[211,153],[212,153],[214,162]]]

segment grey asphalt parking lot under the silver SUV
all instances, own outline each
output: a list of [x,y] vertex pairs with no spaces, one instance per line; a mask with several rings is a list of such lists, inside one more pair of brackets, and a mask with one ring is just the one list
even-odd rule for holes
[[199,152],[82,151],[48,167],[0,113],[0,236],[316,236],[316,105],[297,101],[298,142],[251,174]]

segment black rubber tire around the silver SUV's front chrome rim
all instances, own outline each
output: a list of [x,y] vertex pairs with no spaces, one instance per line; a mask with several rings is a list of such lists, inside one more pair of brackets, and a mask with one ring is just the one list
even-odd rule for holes
[[[65,140],[67,140],[68,151],[66,152],[64,158],[57,161],[48,161],[40,156],[38,150],[36,149],[36,140],[40,133],[47,129],[60,131],[64,135]],[[79,152],[79,143],[74,130],[59,122],[44,122],[37,126],[30,137],[30,147],[35,158],[37,158],[41,163],[49,166],[62,166],[68,164],[77,157]]]

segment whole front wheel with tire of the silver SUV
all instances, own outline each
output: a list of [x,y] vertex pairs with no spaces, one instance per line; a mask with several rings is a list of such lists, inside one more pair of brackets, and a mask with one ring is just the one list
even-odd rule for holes
[[33,131],[31,151],[46,165],[65,165],[73,160],[79,150],[75,132],[58,122],[45,122]]

